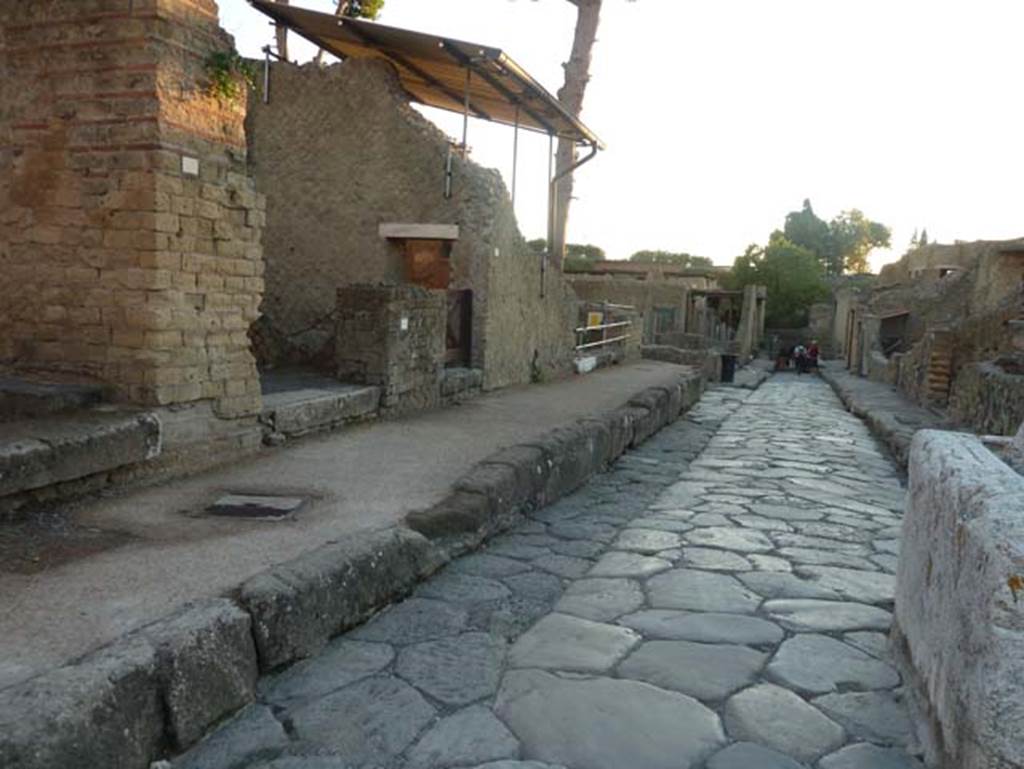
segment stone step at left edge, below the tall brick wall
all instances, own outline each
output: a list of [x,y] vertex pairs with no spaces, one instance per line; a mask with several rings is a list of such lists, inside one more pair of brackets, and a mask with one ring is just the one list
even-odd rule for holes
[[93,409],[0,424],[0,497],[154,459],[156,415]]

